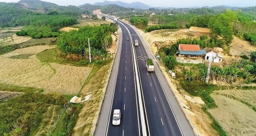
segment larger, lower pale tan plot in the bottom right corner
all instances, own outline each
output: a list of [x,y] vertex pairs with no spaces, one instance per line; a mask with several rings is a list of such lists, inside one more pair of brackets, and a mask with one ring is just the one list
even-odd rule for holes
[[221,95],[211,95],[218,108],[208,110],[228,135],[255,135],[256,112],[245,104]]

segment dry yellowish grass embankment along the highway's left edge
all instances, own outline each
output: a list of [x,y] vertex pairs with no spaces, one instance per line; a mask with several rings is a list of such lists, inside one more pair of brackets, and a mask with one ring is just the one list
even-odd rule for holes
[[[112,61],[105,61],[105,63],[98,62],[94,65],[94,69],[90,72],[86,82],[83,86],[83,94],[92,94],[92,100],[84,103],[84,112],[81,113],[81,120],[78,120],[80,126],[75,130],[75,135],[91,135],[94,120],[99,111],[100,102],[103,95],[103,88],[105,86],[105,79]],[[103,65],[107,65],[102,67]],[[101,69],[102,68],[102,69]],[[86,120],[84,120],[86,119]]]

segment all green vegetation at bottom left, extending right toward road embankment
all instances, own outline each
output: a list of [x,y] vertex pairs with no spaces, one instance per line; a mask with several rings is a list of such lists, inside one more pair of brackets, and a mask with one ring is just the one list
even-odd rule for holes
[[[4,89],[4,86],[6,85],[1,85],[1,88]],[[17,86],[9,87],[12,89],[6,89],[5,91],[20,91],[20,88]],[[48,127],[49,123],[54,124],[54,122],[57,122],[57,127],[53,129],[52,133],[70,135],[81,106],[68,104],[68,100],[63,95],[40,94],[32,92],[38,89],[26,89],[28,90],[25,90],[25,94],[1,102],[0,134],[34,135],[40,131],[40,128]],[[68,106],[64,108],[64,104],[68,104]],[[46,122],[54,114],[57,115],[55,115],[53,120]],[[59,121],[58,115],[60,117]],[[48,134],[48,131],[42,134]]]

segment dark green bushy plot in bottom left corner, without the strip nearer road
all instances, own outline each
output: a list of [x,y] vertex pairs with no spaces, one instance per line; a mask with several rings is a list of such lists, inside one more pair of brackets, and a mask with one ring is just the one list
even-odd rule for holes
[[61,95],[25,93],[0,104],[0,135],[32,135],[51,106],[62,107],[67,100]]

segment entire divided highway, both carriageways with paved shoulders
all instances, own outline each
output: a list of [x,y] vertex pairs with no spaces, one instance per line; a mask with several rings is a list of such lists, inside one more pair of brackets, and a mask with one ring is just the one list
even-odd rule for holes
[[[103,135],[105,130],[100,132],[99,129],[104,128],[107,129],[106,135],[142,135],[141,119],[138,116],[139,108],[137,99],[139,96],[137,95],[138,92],[135,86],[135,67],[133,66],[133,61],[137,61],[138,63],[137,68],[139,70],[141,83],[139,88],[141,88],[143,94],[147,135],[194,135],[192,128],[182,113],[178,102],[175,100],[172,91],[155,61],[153,62],[155,65],[155,72],[147,71],[147,68],[145,67],[145,59],[152,58],[154,60],[154,58],[150,55],[147,46],[145,46],[145,41],[142,40],[140,35],[137,35],[136,30],[130,27],[129,24],[120,21],[129,29],[132,39],[137,39],[139,41],[139,47],[135,47],[137,60],[133,60],[130,43],[133,42],[133,40],[126,40],[126,38],[129,38],[128,32],[119,21],[118,24],[122,33],[120,34],[122,35],[120,39],[123,40],[120,40],[121,44],[119,43],[119,46],[121,46],[119,47],[119,64],[113,66],[118,67],[118,72],[113,87],[112,105],[109,100],[110,93],[107,92],[108,95],[105,97],[107,102],[103,103],[105,110],[101,110],[103,115],[100,115],[95,135]],[[117,57],[115,58],[115,61],[117,61],[116,59]],[[109,86],[111,86],[111,84],[109,84]],[[108,88],[111,88],[109,86]],[[107,91],[111,92],[109,89]],[[107,110],[108,107],[111,110]],[[120,126],[112,125],[112,114],[114,109],[121,109]],[[109,116],[107,126],[105,125],[106,127],[103,125],[106,124],[106,119],[103,119],[106,118],[105,114],[108,114]]]

